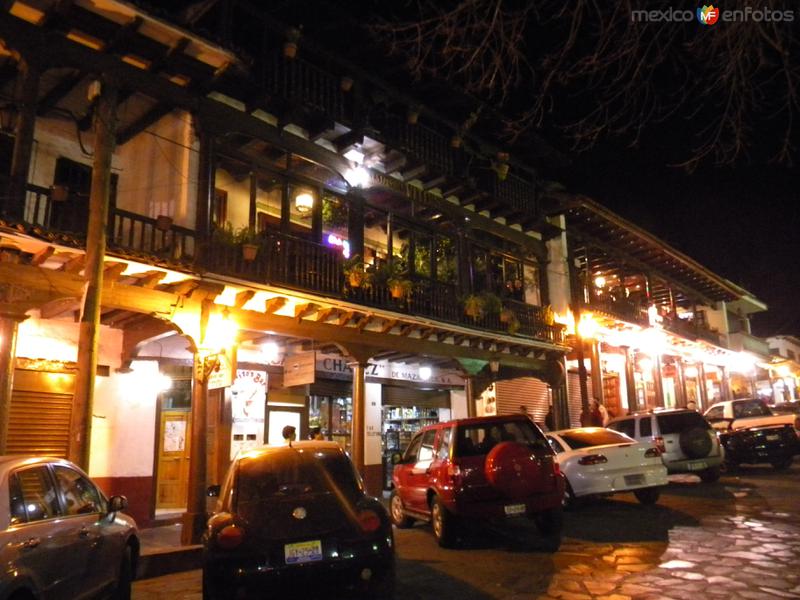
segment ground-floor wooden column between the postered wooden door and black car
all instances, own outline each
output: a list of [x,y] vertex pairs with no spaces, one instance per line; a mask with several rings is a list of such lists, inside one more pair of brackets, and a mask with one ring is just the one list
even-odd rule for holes
[[[203,302],[203,312],[208,314],[208,301]],[[207,317],[206,317],[207,321]],[[192,430],[189,439],[189,482],[186,495],[186,512],[183,514],[181,543],[200,543],[206,525],[206,470],[208,443],[208,375],[212,369],[211,359],[199,352],[194,353],[194,375],[192,381]]]

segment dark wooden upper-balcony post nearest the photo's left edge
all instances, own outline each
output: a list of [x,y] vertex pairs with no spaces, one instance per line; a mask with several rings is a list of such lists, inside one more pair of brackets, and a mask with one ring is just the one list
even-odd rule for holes
[[36,101],[39,97],[41,72],[35,63],[24,58],[19,61],[18,68],[17,123],[14,127],[14,150],[11,155],[5,212],[12,218],[21,220],[25,213],[25,190],[33,152]]

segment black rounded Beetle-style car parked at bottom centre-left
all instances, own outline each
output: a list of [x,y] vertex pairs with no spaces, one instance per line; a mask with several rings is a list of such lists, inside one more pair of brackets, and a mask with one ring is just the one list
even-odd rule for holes
[[365,494],[338,444],[303,441],[244,452],[221,490],[210,492],[219,501],[203,540],[204,600],[280,597],[282,588],[393,597],[389,515]]

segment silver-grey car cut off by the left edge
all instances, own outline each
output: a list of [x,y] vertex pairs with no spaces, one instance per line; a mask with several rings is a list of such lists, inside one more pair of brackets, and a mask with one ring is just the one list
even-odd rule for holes
[[128,600],[139,540],[126,506],[67,460],[0,456],[0,600]]

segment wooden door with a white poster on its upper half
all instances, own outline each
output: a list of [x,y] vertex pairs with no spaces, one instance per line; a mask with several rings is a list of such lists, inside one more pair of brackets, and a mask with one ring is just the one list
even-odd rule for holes
[[189,480],[188,410],[161,413],[156,508],[185,508]]

